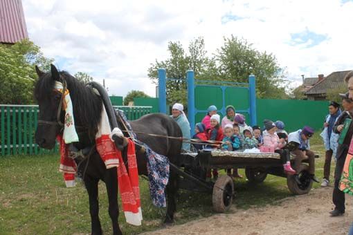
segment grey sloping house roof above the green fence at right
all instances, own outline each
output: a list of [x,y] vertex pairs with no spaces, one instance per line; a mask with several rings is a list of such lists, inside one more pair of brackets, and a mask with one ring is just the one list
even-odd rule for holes
[[320,82],[311,87],[305,95],[319,95],[325,94],[328,89],[339,88],[344,85],[345,81],[343,80],[345,75],[350,71],[337,71],[331,73]]

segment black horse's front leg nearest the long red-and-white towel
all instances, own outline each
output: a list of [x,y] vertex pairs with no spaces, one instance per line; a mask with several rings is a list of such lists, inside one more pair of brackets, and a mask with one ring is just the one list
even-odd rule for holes
[[109,199],[109,216],[113,223],[113,234],[122,234],[119,223],[119,208],[118,208],[118,173],[116,167],[107,169],[105,173],[105,186],[107,187]]

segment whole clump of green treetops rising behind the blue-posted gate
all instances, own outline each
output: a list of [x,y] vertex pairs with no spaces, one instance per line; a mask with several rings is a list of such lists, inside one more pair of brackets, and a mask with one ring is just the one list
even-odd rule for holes
[[167,102],[181,102],[186,104],[185,73],[194,70],[196,79],[214,81],[248,82],[248,76],[253,73],[256,77],[257,97],[269,99],[288,99],[284,85],[285,72],[278,65],[274,55],[259,52],[244,39],[237,39],[233,35],[224,38],[224,45],[215,55],[208,57],[205,42],[199,37],[190,41],[186,53],[179,41],[170,41],[168,45],[170,57],[162,62],[156,60],[148,68],[148,77],[158,83],[157,70],[165,68],[167,77],[183,79],[181,81],[167,81]]

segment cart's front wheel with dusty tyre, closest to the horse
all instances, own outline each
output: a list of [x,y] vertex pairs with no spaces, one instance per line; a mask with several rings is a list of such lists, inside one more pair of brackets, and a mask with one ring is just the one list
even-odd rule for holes
[[215,212],[226,212],[232,205],[234,183],[229,176],[220,176],[213,186],[212,205]]

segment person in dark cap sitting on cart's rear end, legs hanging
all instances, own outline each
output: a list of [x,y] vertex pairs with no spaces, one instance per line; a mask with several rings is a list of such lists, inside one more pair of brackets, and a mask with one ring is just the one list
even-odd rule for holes
[[[302,164],[302,160],[304,160],[307,156],[309,161],[310,178],[315,182],[319,182],[318,178],[315,176],[315,154],[313,151],[310,151],[309,138],[311,138],[312,135],[314,135],[314,129],[312,129],[310,126],[304,126],[303,129],[289,133],[287,148],[289,148],[289,150],[296,156],[294,160],[294,167],[297,171],[297,174],[300,164]],[[300,184],[298,177],[296,179]]]

